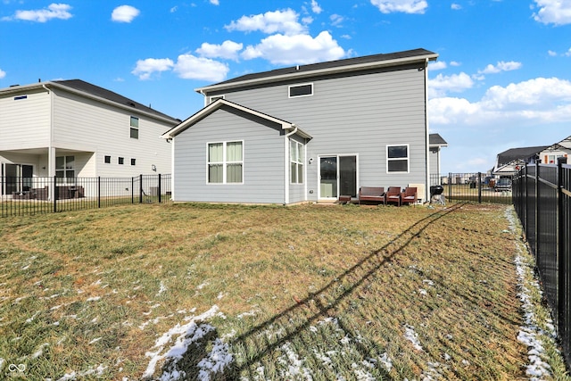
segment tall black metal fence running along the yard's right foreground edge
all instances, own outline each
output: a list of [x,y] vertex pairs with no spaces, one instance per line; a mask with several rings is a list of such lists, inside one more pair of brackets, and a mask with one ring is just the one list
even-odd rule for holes
[[571,368],[571,165],[526,165],[513,187],[514,207]]

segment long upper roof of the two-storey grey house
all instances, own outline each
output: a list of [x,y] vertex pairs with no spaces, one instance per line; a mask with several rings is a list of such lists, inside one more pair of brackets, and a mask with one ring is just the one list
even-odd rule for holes
[[385,66],[402,65],[411,62],[435,61],[438,54],[426,49],[413,49],[388,54],[373,54],[362,57],[346,58],[344,60],[297,65],[289,68],[262,71],[246,74],[235,79],[228,79],[214,85],[199,87],[195,91],[203,94],[207,91],[224,90],[257,83],[276,82],[283,79],[302,79],[321,74],[333,74],[354,70],[367,70]]

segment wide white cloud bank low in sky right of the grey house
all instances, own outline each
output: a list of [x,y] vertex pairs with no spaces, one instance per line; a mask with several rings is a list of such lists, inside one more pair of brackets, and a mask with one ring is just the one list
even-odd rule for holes
[[519,126],[571,119],[571,82],[557,78],[530,79],[507,87],[490,87],[480,101],[441,97],[428,101],[435,125]]

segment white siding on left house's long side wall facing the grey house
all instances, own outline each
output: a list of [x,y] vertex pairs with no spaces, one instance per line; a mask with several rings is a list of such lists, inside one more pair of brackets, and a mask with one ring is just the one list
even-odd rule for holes
[[[139,118],[138,139],[129,137],[131,116]],[[76,170],[82,177],[170,173],[171,145],[161,139],[161,134],[171,127],[136,109],[129,112],[63,90],[54,91],[53,145],[58,150],[89,153],[78,155]],[[111,163],[104,162],[106,155],[111,156]],[[120,157],[124,164],[119,164]],[[136,159],[135,166],[131,159]],[[151,170],[152,165],[156,172]]]

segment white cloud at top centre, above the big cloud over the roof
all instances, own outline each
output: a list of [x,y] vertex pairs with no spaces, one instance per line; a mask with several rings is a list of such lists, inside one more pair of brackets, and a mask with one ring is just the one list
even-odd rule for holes
[[228,31],[238,30],[252,32],[260,30],[266,34],[285,33],[292,36],[305,31],[305,27],[299,23],[299,15],[291,9],[285,11],[265,12],[252,16],[242,16],[238,21],[232,21],[224,26]]

